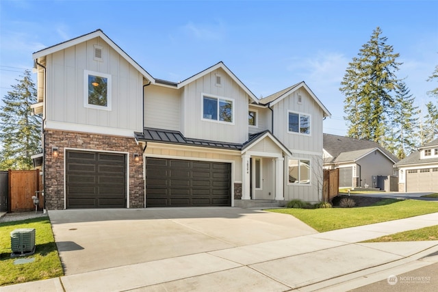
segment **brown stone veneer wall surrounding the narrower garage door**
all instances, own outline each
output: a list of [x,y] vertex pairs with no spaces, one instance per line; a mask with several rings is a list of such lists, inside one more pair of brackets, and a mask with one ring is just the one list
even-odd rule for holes
[[[59,156],[52,156],[52,147]],[[44,196],[46,209],[64,209],[64,148],[129,152],[129,207],[144,208],[142,148],[130,137],[44,130]],[[133,161],[133,153],[140,161]]]

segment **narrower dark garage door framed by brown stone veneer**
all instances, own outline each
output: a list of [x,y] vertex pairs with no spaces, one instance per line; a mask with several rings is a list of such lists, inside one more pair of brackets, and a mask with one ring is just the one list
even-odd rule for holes
[[125,208],[126,155],[66,152],[66,208]]

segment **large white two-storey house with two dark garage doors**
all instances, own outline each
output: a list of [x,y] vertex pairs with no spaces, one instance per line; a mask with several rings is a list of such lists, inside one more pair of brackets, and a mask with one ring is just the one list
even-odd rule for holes
[[330,113],[304,82],[259,100],[222,62],[155,79],[100,29],[33,57],[47,209],[321,200]]

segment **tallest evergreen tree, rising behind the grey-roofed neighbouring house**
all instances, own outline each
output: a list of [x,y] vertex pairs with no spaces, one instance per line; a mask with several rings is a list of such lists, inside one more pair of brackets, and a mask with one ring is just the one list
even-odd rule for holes
[[391,92],[398,82],[395,72],[402,63],[398,53],[386,44],[377,27],[369,42],[348,64],[339,90],[346,96],[344,119],[348,121],[348,137],[372,140],[383,144],[389,129],[387,114],[394,105]]

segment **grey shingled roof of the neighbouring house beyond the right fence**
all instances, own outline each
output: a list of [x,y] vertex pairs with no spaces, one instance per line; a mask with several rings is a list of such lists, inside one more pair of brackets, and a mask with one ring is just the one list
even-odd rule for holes
[[374,141],[324,133],[322,144],[324,150],[331,155],[331,158],[324,159],[324,163],[356,161],[374,150],[382,152],[383,155],[394,163],[399,160],[391,152]]

